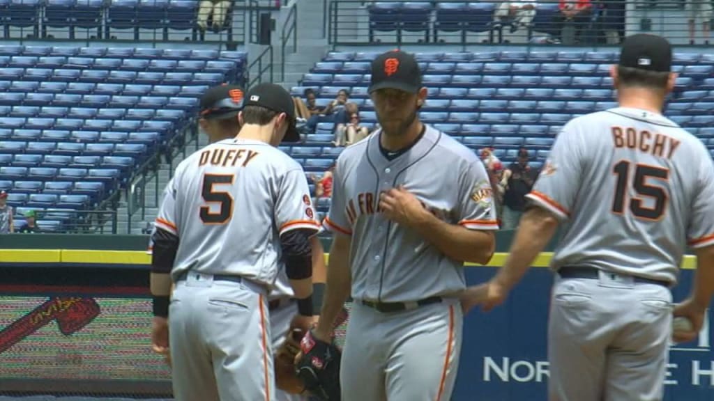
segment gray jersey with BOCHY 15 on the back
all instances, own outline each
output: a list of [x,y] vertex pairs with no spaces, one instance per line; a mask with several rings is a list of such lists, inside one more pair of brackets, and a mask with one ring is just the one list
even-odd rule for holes
[[563,127],[528,198],[566,220],[552,267],[675,283],[686,245],[714,244],[714,166],[664,116],[613,108]]

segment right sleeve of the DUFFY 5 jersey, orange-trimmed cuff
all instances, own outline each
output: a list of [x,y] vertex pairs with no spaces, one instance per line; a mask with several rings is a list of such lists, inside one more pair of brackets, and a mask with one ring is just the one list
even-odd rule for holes
[[315,218],[308,181],[301,169],[283,174],[278,183],[278,198],[273,213],[279,235],[296,228],[308,228],[315,232],[320,229]]

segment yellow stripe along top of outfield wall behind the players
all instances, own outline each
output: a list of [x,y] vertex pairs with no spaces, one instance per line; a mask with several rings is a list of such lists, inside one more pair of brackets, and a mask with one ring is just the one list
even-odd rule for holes
[[[328,260],[329,255],[325,255]],[[493,255],[488,266],[503,266],[508,253],[499,252]],[[552,252],[543,252],[535,259],[533,267],[547,268]],[[79,250],[79,249],[0,249],[0,263],[68,263],[81,265],[149,265],[151,256],[144,250]],[[466,263],[467,266],[478,266]],[[696,268],[696,258],[685,255],[682,268]]]

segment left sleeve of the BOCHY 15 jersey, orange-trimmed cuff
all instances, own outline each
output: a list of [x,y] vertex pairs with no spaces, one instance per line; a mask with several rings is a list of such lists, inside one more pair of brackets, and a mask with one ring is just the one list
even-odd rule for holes
[[528,200],[550,210],[560,220],[570,217],[575,195],[583,176],[582,143],[575,126],[570,123],[555,138],[548,160],[526,195]]

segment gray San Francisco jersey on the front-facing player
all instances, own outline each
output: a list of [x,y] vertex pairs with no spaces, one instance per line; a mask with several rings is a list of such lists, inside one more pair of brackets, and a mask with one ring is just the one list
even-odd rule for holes
[[403,185],[442,220],[473,230],[496,230],[486,169],[473,151],[436,129],[388,160],[381,131],[345,149],[333,176],[328,230],[351,235],[352,297],[411,302],[465,288],[463,262],[421,235],[385,218],[382,191]]

